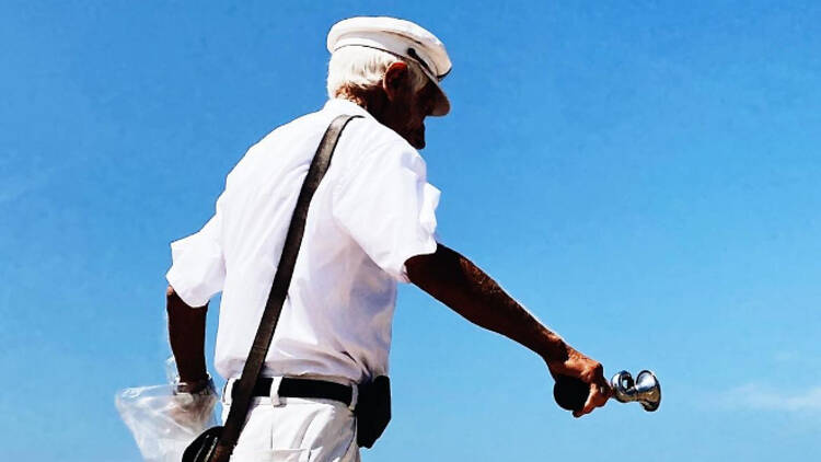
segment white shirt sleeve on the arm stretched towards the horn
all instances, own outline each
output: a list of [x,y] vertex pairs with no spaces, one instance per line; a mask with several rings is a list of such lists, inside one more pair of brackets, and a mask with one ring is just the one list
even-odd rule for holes
[[334,190],[337,223],[394,279],[408,282],[405,262],[436,252],[439,189],[421,157],[389,145],[362,155]]

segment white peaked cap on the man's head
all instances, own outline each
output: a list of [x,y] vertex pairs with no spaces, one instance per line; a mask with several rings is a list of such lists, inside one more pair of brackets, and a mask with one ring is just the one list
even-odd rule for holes
[[432,115],[450,112],[450,101],[439,83],[451,70],[450,58],[444,45],[427,30],[395,18],[350,18],[334,24],[327,34],[332,54],[346,46],[381,49],[416,61],[439,90]]

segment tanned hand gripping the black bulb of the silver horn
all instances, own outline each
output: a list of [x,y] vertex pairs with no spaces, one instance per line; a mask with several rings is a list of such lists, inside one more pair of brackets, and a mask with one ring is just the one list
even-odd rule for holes
[[581,409],[574,411],[574,417],[581,417],[585,414],[590,414],[597,407],[604,406],[608,399],[613,394],[610,383],[604,378],[604,369],[601,363],[588,358],[570,346],[567,346],[565,359],[545,358],[545,362],[547,362],[547,369],[550,369],[554,379],[564,376],[580,380],[589,385],[585,405]]

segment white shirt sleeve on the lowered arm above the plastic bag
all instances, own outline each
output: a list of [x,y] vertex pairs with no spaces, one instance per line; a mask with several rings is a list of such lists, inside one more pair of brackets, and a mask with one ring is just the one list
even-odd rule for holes
[[222,290],[226,262],[220,228],[220,213],[217,211],[201,230],[171,243],[173,263],[165,278],[189,307],[203,307]]

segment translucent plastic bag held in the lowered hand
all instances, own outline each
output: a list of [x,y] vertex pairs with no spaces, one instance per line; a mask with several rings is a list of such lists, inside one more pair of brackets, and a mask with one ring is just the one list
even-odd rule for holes
[[117,411],[146,462],[180,462],[185,447],[217,425],[213,383],[207,393],[175,393],[173,357],[165,361],[165,370],[167,384],[125,389],[115,396]]

